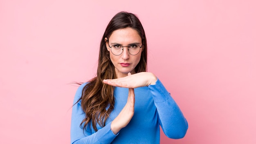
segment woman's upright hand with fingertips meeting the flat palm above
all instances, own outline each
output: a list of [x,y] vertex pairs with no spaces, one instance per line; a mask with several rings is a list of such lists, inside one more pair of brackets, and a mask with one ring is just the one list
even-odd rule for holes
[[[129,75],[129,74],[128,74]],[[121,110],[119,115],[111,123],[111,131],[116,135],[121,128],[124,128],[129,124],[130,120],[134,115],[134,104],[135,104],[135,94],[134,89],[129,88],[127,103]]]

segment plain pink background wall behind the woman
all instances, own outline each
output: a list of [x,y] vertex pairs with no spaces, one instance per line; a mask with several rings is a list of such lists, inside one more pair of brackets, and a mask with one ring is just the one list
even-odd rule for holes
[[254,0],[1,0],[0,144],[69,144],[77,86],[97,69],[110,19],[136,13],[148,71],[189,122],[161,144],[256,143]]

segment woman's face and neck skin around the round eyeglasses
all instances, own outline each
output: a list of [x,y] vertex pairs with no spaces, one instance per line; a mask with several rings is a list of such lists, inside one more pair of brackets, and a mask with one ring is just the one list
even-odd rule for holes
[[110,53],[110,60],[115,66],[115,73],[117,78],[125,77],[129,72],[134,74],[135,67],[139,63],[143,47],[140,48],[140,51],[137,55],[131,55],[128,52],[128,47],[124,47],[121,55],[114,55],[111,52],[110,47],[115,44],[119,44],[121,46],[130,46],[131,44],[135,43],[141,46],[142,42],[139,33],[135,29],[132,29],[130,27],[125,29],[118,29],[113,31],[108,39],[105,38],[105,41],[107,40],[108,42],[106,42],[106,47]]

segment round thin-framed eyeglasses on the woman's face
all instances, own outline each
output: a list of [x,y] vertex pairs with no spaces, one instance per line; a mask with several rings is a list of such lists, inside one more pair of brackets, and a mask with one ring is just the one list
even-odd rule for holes
[[[107,42],[108,42],[108,46],[110,47],[108,40],[107,40]],[[130,46],[121,46],[120,44],[115,44],[115,45],[112,45],[110,47],[110,49],[111,49],[111,52],[113,53],[113,55],[121,55],[124,51],[124,47],[128,47],[128,52],[131,55],[137,55],[139,53],[142,45],[143,44],[141,44],[141,46],[139,46],[138,44],[131,44]]]

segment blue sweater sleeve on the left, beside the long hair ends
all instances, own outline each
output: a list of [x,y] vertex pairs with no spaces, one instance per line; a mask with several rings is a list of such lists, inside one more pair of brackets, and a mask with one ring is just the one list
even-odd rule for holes
[[99,129],[96,133],[92,133],[90,126],[86,126],[84,131],[80,127],[82,120],[85,118],[85,113],[81,109],[81,100],[79,102],[77,101],[81,97],[85,85],[84,83],[79,86],[74,98],[70,133],[71,144],[110,144],[117,136],[110,130],[111,122]]

